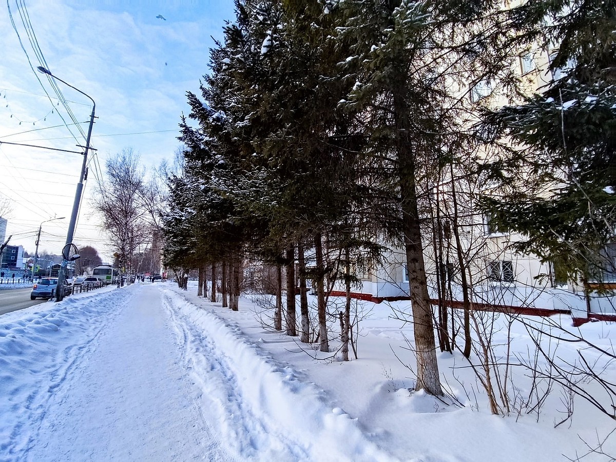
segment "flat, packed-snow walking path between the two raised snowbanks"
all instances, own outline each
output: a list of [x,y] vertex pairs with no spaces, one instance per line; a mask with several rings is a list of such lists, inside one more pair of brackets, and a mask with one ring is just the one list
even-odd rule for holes
[[52,395],[28,459],[229,459],[201,415],[160,293],[135,289]]

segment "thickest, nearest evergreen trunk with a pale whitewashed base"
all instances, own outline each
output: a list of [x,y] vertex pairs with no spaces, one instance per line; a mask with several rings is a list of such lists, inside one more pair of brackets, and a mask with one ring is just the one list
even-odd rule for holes
[[[406,77],[403,77],[404,81]],[[415,155],[411,147],[411,124],[408,120],[410,110],[405,97],[394,93],[394,119],[397,128],[397,160],[399,168],[400,197],[402,198],[402,220],[404,243],[407,254],[408,286],[413,312],[415,331],[415,354],[417,356],[416,390],[428,394],[443,395],[440,386],[439,363],[436,359],[434,323],[426,281],[426,265],[421,243],[421,226],[417,205],[415,180]],[[417,148],[417,146],[415,146]]]

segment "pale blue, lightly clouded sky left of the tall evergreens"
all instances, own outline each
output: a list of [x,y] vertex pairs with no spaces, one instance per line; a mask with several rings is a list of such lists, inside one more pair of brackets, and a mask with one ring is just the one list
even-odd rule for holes
[[[157,16],[162,18],[158,18]],[[164,19],[163,19],[164,18]],[[91,101],[57,82],[77,125],[40,65],[95,103],[88,177],[73,243],[111,261],[92,192],[105,161],[123,149],[151,171],[172,161],[185,92],[199,93],[213,38],[232,20],[231,0],[8,0],[0,4],[0,201],[9,198],[6,238],[34,253],[59,254],[67,237]],[[81,131],[80,131],[81,129]],[[54,217],[64,217],[43,223]]]

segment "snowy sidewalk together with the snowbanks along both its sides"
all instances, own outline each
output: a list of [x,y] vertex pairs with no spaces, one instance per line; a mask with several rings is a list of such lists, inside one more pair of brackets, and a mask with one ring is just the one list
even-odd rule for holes
[[0,460],[389,460],[320,391],[162,285],[0,318]]

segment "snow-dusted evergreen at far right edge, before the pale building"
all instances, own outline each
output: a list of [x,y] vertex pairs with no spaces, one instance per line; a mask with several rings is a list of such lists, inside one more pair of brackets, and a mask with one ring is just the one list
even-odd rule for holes
[[554,81],[487,113],[482,139],[509,137],[488,172],[485,213],[527,238],[516,248],[569,280],[600,279],[616,223],[616,3],[538,1],[512,10],[519,37],[551,55]]

